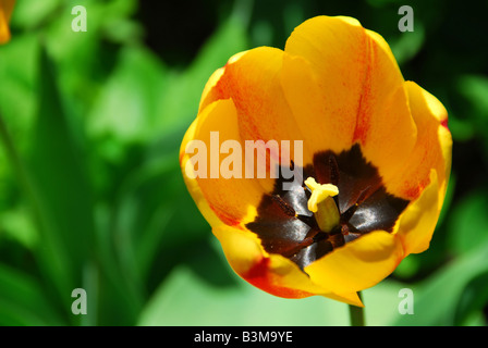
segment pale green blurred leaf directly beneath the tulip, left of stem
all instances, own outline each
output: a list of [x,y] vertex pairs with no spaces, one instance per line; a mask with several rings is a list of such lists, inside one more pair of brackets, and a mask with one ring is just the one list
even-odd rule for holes
[[[208,270],[211,272],[211,270]],[[322,297],[278,298],[239,279],[206,284],[184,266],[173,270],[143,311],[138,325],[347,325],[347,306]]]

